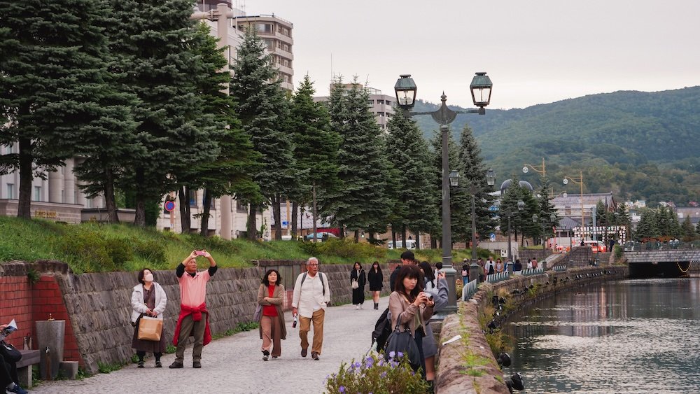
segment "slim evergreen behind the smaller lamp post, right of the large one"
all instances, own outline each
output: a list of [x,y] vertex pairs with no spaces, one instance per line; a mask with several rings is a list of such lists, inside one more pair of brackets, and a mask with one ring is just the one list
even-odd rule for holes
[[[477,146],[472,129],[469,125],[464,125],[459,140],[459,162],[463,174],[459,180],[471,193],[472,187],[476,191],[474,198],[476,213],[477,239],[489,239],[489,234],[494,231],[496,222],[493,220],[489,207],[493,204],[494,197],[489,194],[492,187],[486,183],[486,166],[481,155],[481,149]],[[471,211],[469,213],[471,221]],[[471,225],[468,226],[469,237],[471,238]]]

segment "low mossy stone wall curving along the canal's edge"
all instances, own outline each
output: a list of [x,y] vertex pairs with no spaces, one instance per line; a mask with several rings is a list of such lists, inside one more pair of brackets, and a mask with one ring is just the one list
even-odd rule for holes
[[[566,272],[547,271],[535,276],[514,276],[499,283],[482,283],[479,290],[468,302],[459,302],[461,313],[445,318],[440,332],[440,344],[456,335],[461,341],[440,346],[437,355],[436,392],[443,393],[509,393],[503,383],[501,372],[486,337],[479,325],[479,312],[491,304],[491,295],[508,294],[509,305],[521,309],[528,304],[551,297],[556,293],[586,286],[601,281],[619,280],[629,276],[626,266],[606,266],[569,269]],[[532,285],[538,290],[535,295],[524,291],[514,294],[514,290],[524,290]],[[499,325],[507,316],[500,316]],[[479,358],[484,365],[467,367],[467,360]],[[478,363],[477,363],[478,364]],[[477,376],[478,375],[478,376]],[[527,388],[527,387],[526,387]]]

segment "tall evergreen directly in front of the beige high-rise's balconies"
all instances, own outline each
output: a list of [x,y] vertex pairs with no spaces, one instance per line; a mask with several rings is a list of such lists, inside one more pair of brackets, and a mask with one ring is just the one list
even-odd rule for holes
[[233,66],[231,95],[243,129],[260,154],[260,167],[253,174],[262,199],[249,197],[248,239],[255,239],[255,213],[272,204],[275,238],[281,239],[280,204],[295,187],[292,139],[288,133],[289,106],[280,80],[265,52],[265,43],[248,29],[238,48],[238,62]]

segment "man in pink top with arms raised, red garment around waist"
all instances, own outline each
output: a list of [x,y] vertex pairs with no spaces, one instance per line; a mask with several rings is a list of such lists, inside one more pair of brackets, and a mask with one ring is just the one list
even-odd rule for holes
[[[197,256],[209,260],[209,269],[197,272]],[[173,344],[177,346],[175,361],[170,368],[182,368],[187,338],[195,337],[192,348],[192,367],[202,367],[202,348],[211,342],[209,311],[207,310],[207,282],[216,274],[216,261],[207,251],[192,251],[175,269],[180,284],[180,316],[175,326]]]

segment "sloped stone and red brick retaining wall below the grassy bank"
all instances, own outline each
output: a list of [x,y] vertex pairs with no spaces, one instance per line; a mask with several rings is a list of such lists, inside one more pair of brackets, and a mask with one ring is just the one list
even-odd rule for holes
[[[218,269],[207,286],[207,309],[211,314],[209,323],[213,335],[252,320],[260,279],[267,268],[281,268],[281,276],[288,283],[293,283],[304,269],[303,261],[274,263],[265,262],[254,268]],[[388,294],[391,272],[386,264],[381,268],[384,272],[382,293]],[[351,301],[351,269],[351,265],[321,265],[321,272],[328,275],[332,304]],[[36,272],[38,282],[29,281],[30,271]],[[0,265],[0,274],[3,290],[0,321],[15,318],[18,322],[20,330],[10,337],[15,346],[22,346],[25,335],[36,337],[34,321],[46,320],[52,314],[52,318],[66,321],[64,359],[78,361],[89,373],[97,372],[98,363],[124,363],[134,354],[131,348],[134,329],[130,321],[137,272],[76,275],[69,273],[62,262],[10,262]],[[177,277],[174,269],[156,271],[154,275],[168,298],[163,314],[164,335],[167,342],[172,343],[180,307]],[[286,309],[291,307],[291,286],[287,286]],[[369,286],[365,290],[369,290]],[[365,294],[371,303],[368,291]],[[36,339],[34,345],[36,348]]]

